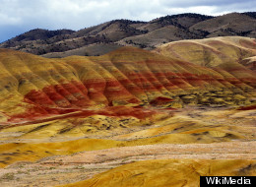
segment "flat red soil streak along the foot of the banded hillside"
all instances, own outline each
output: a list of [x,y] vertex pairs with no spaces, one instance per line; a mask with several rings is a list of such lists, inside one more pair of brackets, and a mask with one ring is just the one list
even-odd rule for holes
[[[37,109],[37,110],[36,110]],[[48,111],[45,112],[45,110]],[[154,114],[160,112],[167,112],[167,110],[159,110],[156,109],[146,109],[143,107],[126,107],[126,106],[107,106],[103,109],[99,110],[89,110],[89,109],[61,109],[61,108],[45,108],[45,110],[39,108],[28,109],[27,112],[12,116],[8,122],[14,126],[20,125],[29,125],[47,122],[56,119],[65,119],[68,117],[88,117],[92,115],[105,115],[105,116],[133,116],[138,119],[145,119],[148,117],[153,117]],[[58,114],[53,113],[58,112]],[[77,112],[75,112],[77,111]],[[66,114],[66,115],[59,115]]]

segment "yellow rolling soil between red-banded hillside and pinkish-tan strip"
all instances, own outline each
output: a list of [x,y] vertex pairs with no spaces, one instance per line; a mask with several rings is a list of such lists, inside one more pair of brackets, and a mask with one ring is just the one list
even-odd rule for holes
[[[76,125],[70,125],[74,121]],[[11,127],[0,131],[0,166],[115,147],[254,140],[254,122],[255,110],[220,112],[187,107],[174,117],[161,116],[145,121],[95,115]],[[65,126],[71,130],[60,134]]]

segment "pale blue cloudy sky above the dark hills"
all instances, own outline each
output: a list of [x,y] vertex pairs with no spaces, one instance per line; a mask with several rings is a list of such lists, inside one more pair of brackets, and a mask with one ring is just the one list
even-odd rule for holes
[[256,0],[0,0],[0,42],[33,29],[78,31],[116,20],[255,12]]

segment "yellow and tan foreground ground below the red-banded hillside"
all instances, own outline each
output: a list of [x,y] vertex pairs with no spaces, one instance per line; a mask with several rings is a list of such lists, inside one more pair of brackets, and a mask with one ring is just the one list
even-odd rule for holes
[[2,129],[0,184],[198,186],[200,175],[256,175],[255,114],[187,106],[152,121],[76,119],[61,134],[74,119]]

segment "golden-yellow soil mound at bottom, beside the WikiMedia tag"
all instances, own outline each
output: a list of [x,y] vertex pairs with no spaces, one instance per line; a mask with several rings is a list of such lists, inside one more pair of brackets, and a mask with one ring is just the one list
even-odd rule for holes
[[200,176],[255,175],[256,160],[155,159],[125,164],[65,187],[199,186]]

